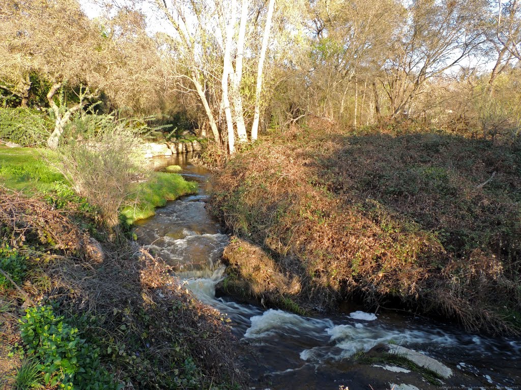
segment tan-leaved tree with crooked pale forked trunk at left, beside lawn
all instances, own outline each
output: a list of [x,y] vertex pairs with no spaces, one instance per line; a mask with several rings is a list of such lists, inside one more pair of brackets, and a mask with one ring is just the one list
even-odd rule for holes
[[[0,17],[0,80],[20,94],[22,105],[27,103],[31,72],[49,83],[46,97],[55,120],[49,147],[57,147],[72,115],[102,92],[119,106],[143,106],[142,97],[151,96],[146,91],[157,84],[157,75],[152,77],[155,47],[144,34],[144,23],[132,24],[130,16],[135,15],[120,12],[107,31],[89,20],[76,0],[5,3]],[[58,98],[65,86],[79,90],[76,99]]]

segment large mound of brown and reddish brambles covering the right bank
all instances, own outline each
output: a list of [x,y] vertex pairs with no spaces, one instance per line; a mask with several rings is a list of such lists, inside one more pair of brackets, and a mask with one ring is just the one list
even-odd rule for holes
[[421,128],[323,128],[294,127],[232,159],[215,214],[318,306],[356,293],[518,332],[521,153]]

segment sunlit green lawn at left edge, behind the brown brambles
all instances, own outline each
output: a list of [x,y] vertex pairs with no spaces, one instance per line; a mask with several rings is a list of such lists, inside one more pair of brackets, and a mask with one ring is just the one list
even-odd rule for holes
[[0,147],[0,184],[30,194],[52,191],[56,181],[65,182],[56,159],[49,149]]

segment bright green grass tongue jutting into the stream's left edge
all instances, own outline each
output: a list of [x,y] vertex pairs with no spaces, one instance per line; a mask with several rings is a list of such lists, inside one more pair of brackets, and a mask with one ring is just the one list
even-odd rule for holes
[[181,175],[155,172],[150,180],[138,187],[132,204],[123,207],[121,216],[131,225],[138,219],[145,219],[155,214],[155,208],[169,200],[197,192],[197,183],[185,180]]

